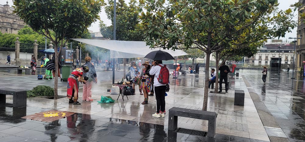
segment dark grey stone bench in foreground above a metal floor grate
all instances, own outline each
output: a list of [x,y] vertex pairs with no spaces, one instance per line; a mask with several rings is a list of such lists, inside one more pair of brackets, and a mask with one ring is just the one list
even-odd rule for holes
[[169,110],[169,116],[168,116],[168,130],[169,131],[174,131],[177,128],[178,116],[208,120],[209,121],[208,133],[206,136],[212,137],[212,138],[215,136],[217,113],[209,112],[209,111],[202,111],[202,110],[173,107]]

